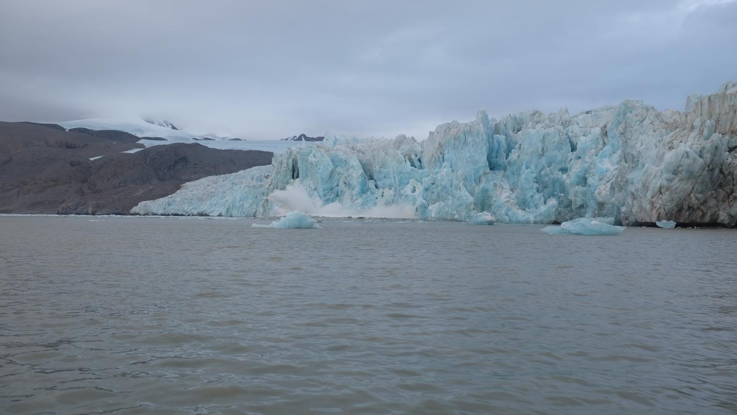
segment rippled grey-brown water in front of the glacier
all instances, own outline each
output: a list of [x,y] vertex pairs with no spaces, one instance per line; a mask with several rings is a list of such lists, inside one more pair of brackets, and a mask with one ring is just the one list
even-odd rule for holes
[[729,229],[0,217],[1,414],[733,414]]

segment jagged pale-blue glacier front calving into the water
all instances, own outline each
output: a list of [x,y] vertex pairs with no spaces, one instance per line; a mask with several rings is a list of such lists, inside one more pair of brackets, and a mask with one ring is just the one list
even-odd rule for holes
[[497,120],[480,111],[472,122],[439,125],[422,142],[326,136],[276,154],[268,173],[257,169],[257,183],[241,181],[251,180],[250,170],[205,178],[133,212],[270,216],[298,209],[423,220],[487,212],[501,223],[613,217],[624,225],[736,226],[737,83],[688,97],[685,111],[626,100],[573,116],[564,108]]

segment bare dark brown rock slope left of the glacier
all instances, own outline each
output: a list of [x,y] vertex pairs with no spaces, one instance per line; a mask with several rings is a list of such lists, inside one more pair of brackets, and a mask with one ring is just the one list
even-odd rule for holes
[[186,181],[270,164],[273,156],[200,144],[121,153],[142,145],[119,131],[94,133],[0,122],[0,213],[128,215]]

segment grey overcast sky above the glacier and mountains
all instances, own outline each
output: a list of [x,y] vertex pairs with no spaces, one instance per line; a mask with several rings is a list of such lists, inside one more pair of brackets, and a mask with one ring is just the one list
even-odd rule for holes
[[1,0],[0,119],[427,137],[737,80],[736,0]]

